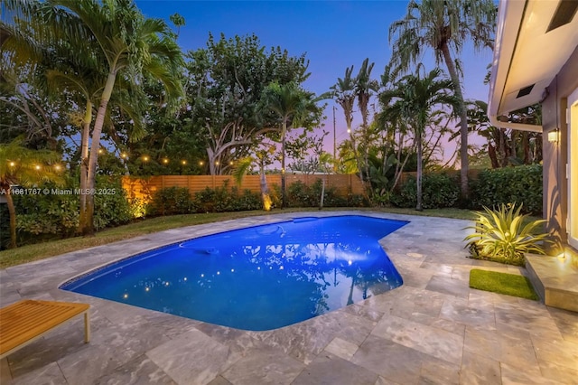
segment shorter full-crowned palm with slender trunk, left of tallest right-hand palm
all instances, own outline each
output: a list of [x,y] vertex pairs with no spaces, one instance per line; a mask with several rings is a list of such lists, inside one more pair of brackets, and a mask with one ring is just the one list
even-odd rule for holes
[[[459,100],[452,94],[453,83],[449,79],[440,79],[442,70],[431,70],[422,78],[418,72],[406,75],[397,83],[396,89],[384,91],[380,98],[390,109],[397,111],[411,122],[417,147],[417,204],[415,210],[422,211],[422,174],[423,174],[423,135],[425,127],[436,111],[434,107],[449,106],[457,108]],[[390,104],[390,102],[393,102]]]

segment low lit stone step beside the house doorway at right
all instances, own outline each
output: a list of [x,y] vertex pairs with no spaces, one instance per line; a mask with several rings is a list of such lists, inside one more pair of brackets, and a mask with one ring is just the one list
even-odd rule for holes
[[578,268],[572,258],[525,257],[528,277],[545,305],[578,312]]

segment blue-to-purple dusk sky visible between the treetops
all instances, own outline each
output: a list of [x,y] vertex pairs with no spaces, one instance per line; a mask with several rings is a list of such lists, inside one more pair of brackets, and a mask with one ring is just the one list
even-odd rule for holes
[[[375,62],[372,75],[379,79],[391,52],[389,25],[406,14],[407,1],[137,0],[136,4],[146,16],[167,22],[171,14],[181,14],[186,24],[179,44],[184,52],[206,47],[209,33],[216,39],[220,33],[227,38],[255,33],[267,48],[279,45],[293,56],[306,52],[312,74],[304,87],[321,94],[342,78],[350,65],[357,74],[365,58]],[[488,99],[483,79],[491,55],[489,49],[475,53],[471,46],[464,48],[461,59],[466,99]],[[423,62],[426,70],[434,68],[431,51],[425,53]],[[445,70],[443,64],[441,67]],[[325,129],[331,134],[325,140],[332,143],[333,102],[327,102]],[[348,135],[340,108],[336,114],[339,143]],[[359,125],[360,117],[353,123]]]

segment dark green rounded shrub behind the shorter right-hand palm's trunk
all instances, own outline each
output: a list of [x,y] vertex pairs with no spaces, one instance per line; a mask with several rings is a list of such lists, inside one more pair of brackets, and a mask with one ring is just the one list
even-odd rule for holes
[[[422,177],[422,205],[424,209],[452,207],[458,201],[460,186],[455,178],[447,174],[424,174]],[[415,177],[407,179],[391,195],[391,202],[397,207],[415,207],[417,204],[417,181]]]

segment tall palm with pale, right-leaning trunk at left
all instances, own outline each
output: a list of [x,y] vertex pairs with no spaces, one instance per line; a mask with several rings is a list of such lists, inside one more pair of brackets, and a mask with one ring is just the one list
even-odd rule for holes
[[[130,0],[54,0],[42,3],[44,22],[52,27],[51,36],[57,45],[64,42],[78,51],[70,51],[70,60],[85,62],[83,57],[100,57],[107,80],[99,95],[97,116],[91,136],[86,186],[94,189],[98,164],[100,136],[107,116],[108,101],[117,87],[117,78],[138,91],[145,76],[160,80],[168,100],[182,96],[179,69],[182,52],[174,34],[160,19],[144,18]],[[85,48],[83,48],[85,47]],[[87,195],[84,234],[94,233],[94,195]]]

